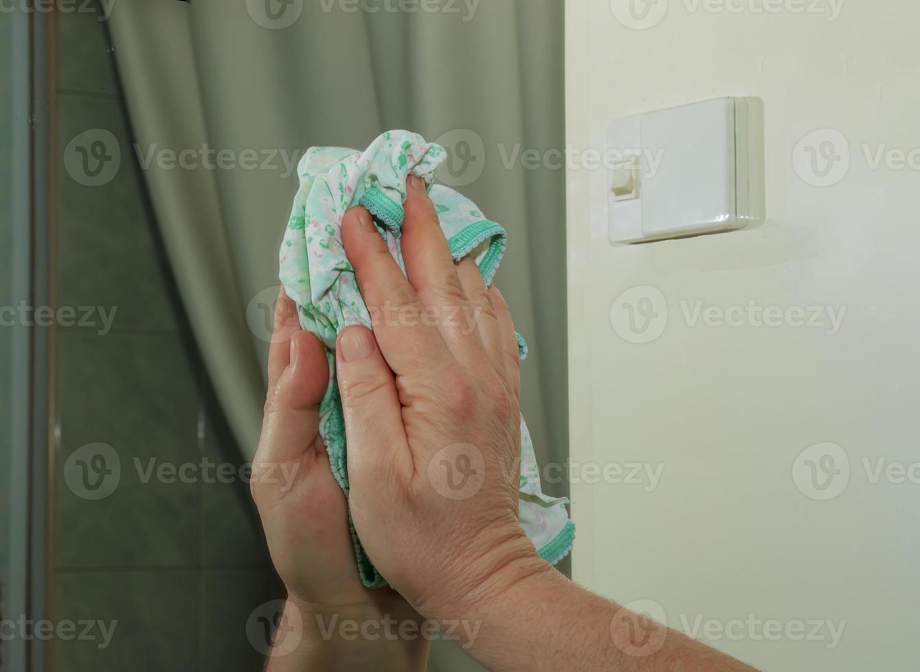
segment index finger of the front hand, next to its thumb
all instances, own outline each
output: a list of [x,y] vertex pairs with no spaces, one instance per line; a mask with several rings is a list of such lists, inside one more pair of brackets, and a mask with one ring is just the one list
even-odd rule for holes
[[374,321],[386,363],[398,375],[449,356],[438,330],[424,318],[424,305],[361,206],[342,220],[342,243]]

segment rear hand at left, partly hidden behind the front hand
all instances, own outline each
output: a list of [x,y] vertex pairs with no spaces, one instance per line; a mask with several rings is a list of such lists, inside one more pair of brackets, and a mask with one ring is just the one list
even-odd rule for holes
[[[275,307],[269,391],[252,465],[251,490],[272,562],[288,591],[285,619],[303,625],[303,631],[295,631],[293,636],[306,645],[302,655],[292,657],[306,655],[326,664],[341,662],[346,655],[351,660],[368,661],[383,657],[394,661],[393,669],[410,669],[419,661],[423,667],[427,642],[421,640],[359,638],[341,643],[334,635],[328,636],[329,646],[341,645],[341,655],[332,655],[318,645],[322,642],[316,636],[317,625],[328,627],[346,619],[358,623],[377,623],[385,618],[420,620],[395,591],[369,590],[358,576],[348,504],[329,469],[326,447],[318,432],[318,406],[327,385],[325,347],[316,336],[301,330],[296,307],[282,290]],[[390,649],[382,652],[383,647]]]

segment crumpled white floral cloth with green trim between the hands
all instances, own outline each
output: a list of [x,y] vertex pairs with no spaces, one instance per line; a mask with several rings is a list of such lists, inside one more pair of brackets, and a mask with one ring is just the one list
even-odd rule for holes
[[[400,250],[402,204],[408,175],[417,175],[425,180],[454,260],[473,255],[483,279],[490,284],[505,253],[508,236],[500,225],[482,214],[476,203],[434,184],[446,156],[443,147],[426,143],[416,133],[390,131],[377,137],[364,151],[311,147],[297,166],[300,188],[282,241],[279,276],[285,292],[297,305],[301,327],[315,333],[326,345],[329,385],[319,407],[319,433],[327,447],[332,473],[346,496],[349,480],[335,377],[336,336],[355,324],[373,329],[341,241],[346,211],[361,204],[374,215],[374,224],[388,249],[406,272]],[[523,359],[527,346],[520,335],[518,345]],[[457,469],[455,474],[449,474],[455,482],[463,484],[470,475],[475,476],[475,465],[468,460],[455,465],[447,460],[445,465],[447,469]],[[548,497],[541,492],[534,446],[522,416],[518,516],[540,555],[554,564],[569,553],[574,539],[575,527],[566,504],[565,498]],[[351,523],[350,526],[363,584],[372,588],[386,585],[385,577],[367,557],[361,539]]]

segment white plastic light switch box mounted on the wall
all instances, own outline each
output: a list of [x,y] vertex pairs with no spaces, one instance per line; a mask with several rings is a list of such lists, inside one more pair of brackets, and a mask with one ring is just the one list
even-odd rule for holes
[[[714,98],[611,122],[610,240],[681,238],[763,221],[763,110],[760,98]],[[631,182],[625,166],[635,167]]]

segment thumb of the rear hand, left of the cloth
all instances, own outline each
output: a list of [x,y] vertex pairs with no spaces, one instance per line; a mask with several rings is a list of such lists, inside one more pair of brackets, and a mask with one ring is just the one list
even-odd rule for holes
[[277,466],[298,457],[313,445],[319,431],[319,402],[326,394],[329,378],[326,347],[315,335],[301,330],[294,334],[288,349],[290,363],[265,403],[254,480],[257,467]]

